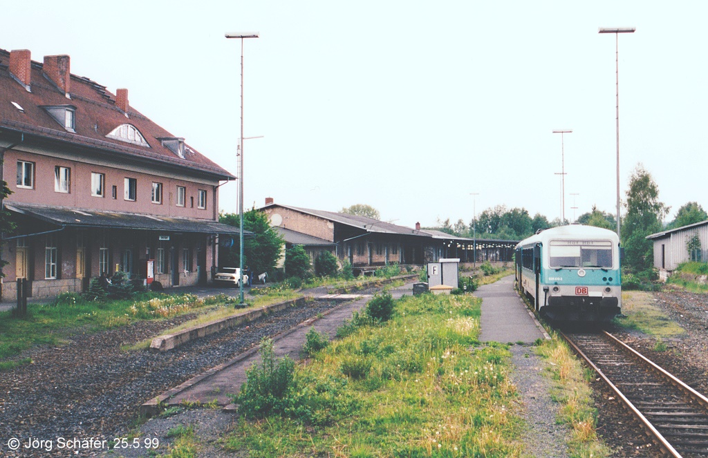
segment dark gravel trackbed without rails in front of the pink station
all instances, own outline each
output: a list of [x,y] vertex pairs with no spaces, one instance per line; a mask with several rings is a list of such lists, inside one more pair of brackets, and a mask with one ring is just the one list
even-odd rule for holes
[[[120,345],[156,336],[189,316],[141,321],[91,336],[77,335],[62,347],[35,348],[22,355],[31,365],[0,379],[0,455],[47,456],[46,450],[13,454],[7,440],[58,437],[111,440],[125,435],[140,404],[166,389],[219,365],[277,333],[330,309],[333,302],[307,302],[222,331],[168,353],[123,352]],[[65,455],[66,450],[62,451]],[[52,450],[51,454],[62,454]],[[76,455],[73,455],[76,456]],[[80,454],[79,456],[89,456]]]

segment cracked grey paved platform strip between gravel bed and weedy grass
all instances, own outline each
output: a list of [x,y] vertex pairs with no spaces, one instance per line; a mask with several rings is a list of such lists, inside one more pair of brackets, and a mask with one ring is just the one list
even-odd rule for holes
[[[413,283],[390,291],[394,299],[399,299],[404,294],[413,294]],[[319,319],[312,319],[299,324],[289,331],[285,331],[277,336],[273,342],[275,357],[289,355],[293,360],[300,359],[302,345],[305,343],[305,334],[311,327],[320,333],[326,333],[330,338],[334,338],[337,328],[343,321],[350,319],[353,311],[362,309],[371,297],[360,297],[350,302],[345,302],[338,307],[328,311]],[[261,359],[256,348],[249,350],[230,362],[219,366],[220,370],[214,371],[213,375],[205,377],[184,389],[179,394],[171,398],[167,403],[178,405],[182,402],[200,401],[202,403],[211,402],[217,399],[219,405],[225,406],[230,403],[228,394],[236,394],[241,390],[241,384],[246,382],[246,370]],[[189,384],[189,382],[186,382]]]

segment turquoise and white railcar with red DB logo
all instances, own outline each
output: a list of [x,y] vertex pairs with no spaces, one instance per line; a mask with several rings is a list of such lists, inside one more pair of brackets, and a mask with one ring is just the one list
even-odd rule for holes
[[546,229],[515,248],[518,290],[552,321],[610,321],[622,311],[619,238],[599,227]]

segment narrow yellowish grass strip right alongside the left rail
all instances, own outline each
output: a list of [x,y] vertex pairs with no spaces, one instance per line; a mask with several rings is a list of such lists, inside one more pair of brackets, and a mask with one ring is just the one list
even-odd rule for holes
[[568,447],[571,457],[609,457],[611,451],[597,435],[596,411],[591,398],[592,389],[581,362],[558,336],[543,340],[536,346],[536,352],[550,364],[546,373],[553,381],[552,399],[560,403],[557,417],[571,430]]

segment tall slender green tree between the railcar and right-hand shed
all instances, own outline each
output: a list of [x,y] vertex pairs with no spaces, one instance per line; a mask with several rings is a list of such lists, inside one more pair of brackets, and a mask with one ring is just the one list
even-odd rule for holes
[[622,245],[624,259],[629,268],[636,272],[653,265],[653,246],[646,236],[661,231],[661,220],[668,213],[668,207],[658,199],[658,185],[644,166],[637,164],[629,178],[627,190],[627,214],[622,221]]

